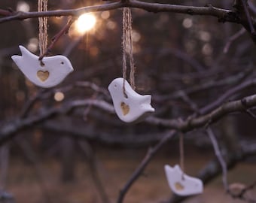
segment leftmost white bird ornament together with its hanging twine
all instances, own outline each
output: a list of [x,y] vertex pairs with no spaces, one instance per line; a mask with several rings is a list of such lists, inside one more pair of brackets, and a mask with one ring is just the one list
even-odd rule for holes
[[[47,11],[47,0],[38,0],[38,11]],[[73,67],[66,56],[44,57],[47,53],[47,17],[39,17],[38,20],[40,56],[20,46],[22,55],[11,56],[11,59],[32,83],[48,88],[61,83],[73,71]]]

